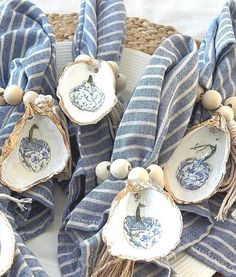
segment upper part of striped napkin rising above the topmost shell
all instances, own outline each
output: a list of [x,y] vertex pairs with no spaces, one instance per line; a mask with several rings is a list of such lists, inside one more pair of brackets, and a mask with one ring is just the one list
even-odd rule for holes
[[105,61],[120,61],[124,31],[123,0],[83,0],[74,36],[73,57],[86,54]]

